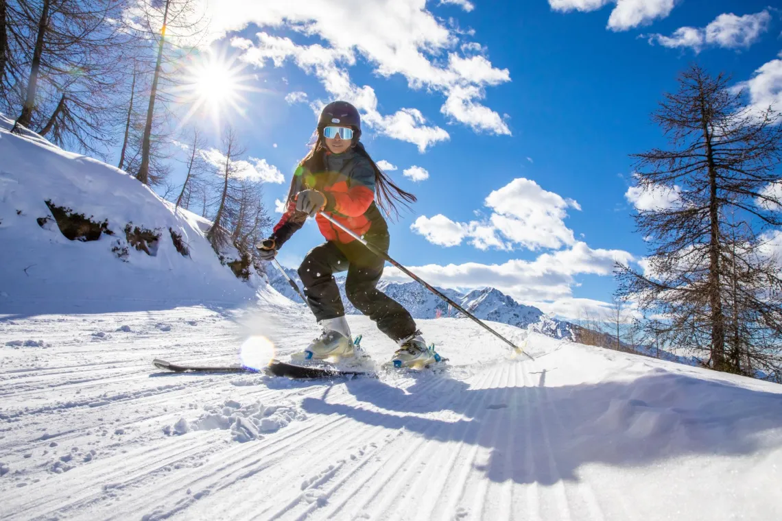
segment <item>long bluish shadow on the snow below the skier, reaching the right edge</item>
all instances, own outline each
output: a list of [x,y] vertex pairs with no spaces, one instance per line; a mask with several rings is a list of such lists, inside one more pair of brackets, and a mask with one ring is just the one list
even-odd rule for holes
[[782,394],[664,369],[631,381],[546,387],[546,372],[526,373],[524,384],[487,388],[443,375],[420,377],[405,389],[353,380],[346,387],[357,405],[329,403],[325,396],[305,398],[303,409],[406,430],[422,442],[477,444],[490,455],[475,468],[497,482],[554,484],[577,480],[576,469],[590,462],[648,466],[782,445],[779,437],[762,436],[782,428]]

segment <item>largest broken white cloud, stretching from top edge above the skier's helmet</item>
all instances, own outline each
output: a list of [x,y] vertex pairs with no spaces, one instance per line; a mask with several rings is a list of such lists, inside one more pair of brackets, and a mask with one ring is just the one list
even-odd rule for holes
[[[465,8],[472,5],[464,0],[457,3]],[[415,109],[381,114],[374,89],[359,87],[350,80],[348,70],[357,63],[357,55],[374,66],[378,76],[400,74],[411,88],[443,95],[446,102],[441,112],[452,120],[476,131],[510,134],[500,114],[480,102],[486,97],[486,87],[510,81],[508,70],[493,67],[482,55],[462,57],[452,52],[465,37],[464,31],[433,16],[423,0],[365,0],[361,9],[356,9],[353,2],[328,0],[221,0],[219,7],[217,4],[209,4],[211,40],[250,23],[290,30],[310,41],[319,37],[318,43],[296,45],[289,38],[261,32],[255,45],[243,38],[234,38],[232,45],[241,48],[242,58],[256,66],[264,66],[267,60],[282,66],[291,59],[318,77],[329,95],[357,105],[368,127],[379,134],[410,141],[421,151],[449,138],[442,128],[427,124]],[[343,29],[345,20],[351,21],[350,30]],[[467,43],[474,51],[474,42]]]

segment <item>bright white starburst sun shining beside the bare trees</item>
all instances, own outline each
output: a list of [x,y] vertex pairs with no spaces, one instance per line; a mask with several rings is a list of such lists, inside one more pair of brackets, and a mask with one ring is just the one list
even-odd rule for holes
[[176,89],[179,102],[188,107],[185,122],[210,116],[219,125],[236,114],[245,116],[249,108],[245,94],[260,91],[253,87],[256,77],[245,73],[245,66],[220,53],[196,55]]

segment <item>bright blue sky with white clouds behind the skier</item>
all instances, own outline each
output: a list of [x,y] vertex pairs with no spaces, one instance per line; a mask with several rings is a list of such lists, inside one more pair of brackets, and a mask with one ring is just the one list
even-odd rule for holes
[[[561,316],[610,301],[613,259],[645,253],[628,155],[663,145],[649,115],[677,73],[697,60],[749,81],[748,102],[782,100],[782,12],[767,0],[217,3],[212,48],[258,89],[221,123],[284,175],[266,184],[272,212],[314,111],[346,99],[370,154],[418,195],[390,254],[434,284],[493,285]],[[321,241],[308,225],[280,259]]]

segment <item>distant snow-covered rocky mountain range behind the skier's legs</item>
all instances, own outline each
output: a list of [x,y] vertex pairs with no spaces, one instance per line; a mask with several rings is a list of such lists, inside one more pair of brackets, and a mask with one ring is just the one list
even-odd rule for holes
[[[296,284],[301,288],[301,280],[296,269],[284,268]],[[282,276],[278,269],[267,267],[267,275],[272,287],[284,294],[294,302],[302,302],[301,298],[290,286],[288,280]],[[349,315],[360,315],[357,309],[350,304],[345,295],[345,276],[335,277],[339,292],[345,303],[345,312]],[[441,298],[432,294],[417,282],[397,283],[381,280],[378,289],[389,297],[399,302],[416,319],[437,319],[442,317],[461,318],[461,312],[449,309],[449,305]],[[567,338],[572,340],[572,325],[565,321],[546,316],[540,309],[531,305],[523,305],[513,298],[493,287],[484,287],[469,293],[438,287],[439,291],[457,302],[462,308],[471,312],[479,319],[505,323],[510,326],[525,329],[532,327],[534,331],[554,338]]]

